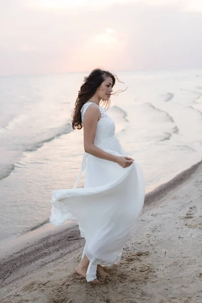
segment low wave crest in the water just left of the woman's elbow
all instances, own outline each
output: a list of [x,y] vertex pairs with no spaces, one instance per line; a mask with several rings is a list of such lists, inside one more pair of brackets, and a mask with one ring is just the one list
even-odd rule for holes
[[53,141],[55,138],[60,137],[62,135],[68,134],[73,131],[72,125],[67,123],[64,126],[54,128],[54,134],[50,137],[47,137],[41,141],[33,143],[30,147],[28,147],[25,151],[36,151],[38,148],[42,147],[45,142]]

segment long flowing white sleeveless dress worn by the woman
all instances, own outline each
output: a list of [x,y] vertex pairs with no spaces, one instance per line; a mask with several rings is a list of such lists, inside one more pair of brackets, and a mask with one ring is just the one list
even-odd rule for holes
[[[87,102],[82,107],[82,121],[91,104]],[[94,144],[113,155],[127,156],[115,135],[114,121],[105,109],[98,108],[101,118],[97,122]],[[84,187],[76,188],[84,170]],[[143,203],[144,178],[135,161],[122,168],[117,163],[85,152],[74,187],[52,191],[50,221],[55,226],[68,220],[76,221],[81,237],[86,240],[82,258],[86,255],[90,260],[86,274],[88,282],[96,279],[98,264],[112,265],[121,259]]]

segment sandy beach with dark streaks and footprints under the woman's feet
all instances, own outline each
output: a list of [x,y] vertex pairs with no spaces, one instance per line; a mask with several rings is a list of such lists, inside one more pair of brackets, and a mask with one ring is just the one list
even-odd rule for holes
[[199,303],[201,234],[202,161],[146,195],[109,281],[93,286],[74,273],[84,239],[64,224],[0,250],[0,302]]

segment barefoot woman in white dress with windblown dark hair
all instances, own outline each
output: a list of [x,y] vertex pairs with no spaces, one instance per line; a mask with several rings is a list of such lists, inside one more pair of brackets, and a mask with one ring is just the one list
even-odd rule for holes
[[[110,103],[115,76],[95,69],[82,84],[72,114],[73,129],[83,127],[84,155],[73,189],[52,191],[50,221],[59,226],[75,220],[86,243],[75,271],[98,284],[109,275],[102,266],[116,264],[144,203],[140,167],[125,155],[114,121],[99,106]],[[82,171],[84,187],[76,188]]]

